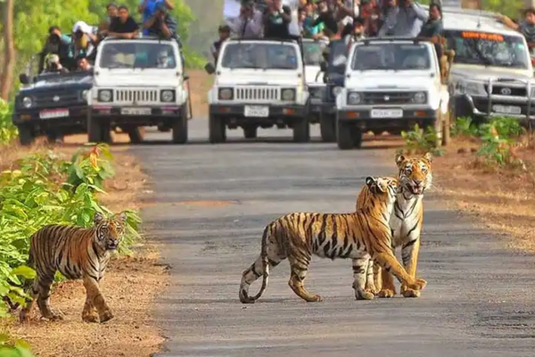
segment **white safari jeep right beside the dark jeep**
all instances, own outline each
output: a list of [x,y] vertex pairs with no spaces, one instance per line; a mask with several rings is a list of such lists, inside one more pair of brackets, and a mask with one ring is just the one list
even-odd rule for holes
[[89,142],[110,142],[110,131],[117,127],[131,142],[139,142],[141,126],[172,129],[173,142],[187,142],[188,77],[177,41],[106,38],[98,47],[94,71],[88,96]]

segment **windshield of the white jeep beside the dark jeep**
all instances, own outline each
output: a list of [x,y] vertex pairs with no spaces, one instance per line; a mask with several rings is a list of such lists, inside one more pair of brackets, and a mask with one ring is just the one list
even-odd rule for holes
[[103,45],[102,69],[175,69],[173,46],[158,42],[124,41]]

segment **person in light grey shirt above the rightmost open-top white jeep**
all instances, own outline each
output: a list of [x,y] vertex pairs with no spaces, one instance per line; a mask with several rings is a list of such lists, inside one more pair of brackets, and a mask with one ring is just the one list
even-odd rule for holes
[[399,0],[398,6],[392,6],[386,14],[378,37],[417,37],[429,16],[413,0]]

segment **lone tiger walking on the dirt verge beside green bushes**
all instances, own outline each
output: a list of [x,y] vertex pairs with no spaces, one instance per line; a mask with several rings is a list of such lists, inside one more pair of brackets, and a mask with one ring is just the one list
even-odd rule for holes
[[63,319],[62,312],[53,312],[50,307],[50,288],[56,271],[68,280],[84,280],[86,304],[82,320],[111,320],[113,314],[104,301],[99,282],[110,261],[111,251],[119,247],[123,238],[126,219],[125,212],[110,219],[95,213],[91,228],[51,224],[36,231],[30,238],[28,264],[34,267],[37,277],[33,282],[27,282],[31,285],[31,300],[21,310],[21,321],[29,320],[36,299],[43,318]]

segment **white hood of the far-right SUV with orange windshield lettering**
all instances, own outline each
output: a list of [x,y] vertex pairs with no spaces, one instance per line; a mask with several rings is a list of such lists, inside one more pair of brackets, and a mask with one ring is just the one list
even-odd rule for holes
[[470,64],[454,64],[450,71],[454,78],[465,78],[475,81],[488,81],[497,78],[523,79],[533,78],[533,72],[529,69],[507,69],[503,67],[481,67]]

